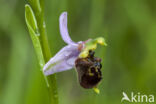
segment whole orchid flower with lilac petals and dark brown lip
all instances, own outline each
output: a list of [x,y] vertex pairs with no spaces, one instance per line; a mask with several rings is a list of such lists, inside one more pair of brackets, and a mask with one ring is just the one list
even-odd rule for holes
[[[99,82],[95,80],[98,78],[98,80],[101,79],[101,59],[94,57],[93,50],[96,49],[97,44],[106,45],[104,38],[100,37],[79,42],[72,41],[67,29],[67,12],[63,12],[61,14],[59,18],[59,25],[62,39],[68,45],[63,47],[46,63],[43,68],[44,74],[50,75],[76,67],[81,86],[84,88],[95,87]],[[87,60],[89,60],[89,62],[87,62]],[[88,77],[87,75],[92,78]],[[86,81],[86,79],[88,79],[89,82]],[[92,85],[87,85],[89,83],[92,83]]]

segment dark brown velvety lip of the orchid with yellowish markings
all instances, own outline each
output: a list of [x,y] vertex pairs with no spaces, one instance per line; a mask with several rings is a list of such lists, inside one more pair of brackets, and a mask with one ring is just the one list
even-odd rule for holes
[[101,59],[94,57],[94,51],[90,50],[86,58],[78,58],[75,61],[75,66],[78,72],[79,82],[83,88],[93,88],[102,79],[101,74]]

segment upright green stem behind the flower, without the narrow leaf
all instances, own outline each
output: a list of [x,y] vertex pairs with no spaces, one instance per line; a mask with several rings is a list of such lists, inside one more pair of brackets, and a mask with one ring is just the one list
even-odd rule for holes
[[[44,21],[44,0],[28,0],[29,4],[31,5],[36,20],[38,31],[40,33],[39,40],[42,47],[43,57],[45,63],[49,61],[51,58],[51,52],[48,45],[47,40],[47,32],[46,32],[46,24]],[[58,93],[57,93],[57,83],[56,83],[56,75],[47,76],[48,83],[49,83],[49,95],[50,95],[50,102],[51,104],[58,104]]]

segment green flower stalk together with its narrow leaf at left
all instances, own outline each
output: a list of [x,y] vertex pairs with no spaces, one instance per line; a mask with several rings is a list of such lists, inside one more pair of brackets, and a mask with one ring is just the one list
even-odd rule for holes
[[[42,70],[45,63],[51,58],[44,20],[44,0],[28,0],[28,3],[25,5],[26,24]],[[58,104],[56,75],[44,75],[44,77],[49,89],[50,104]]]

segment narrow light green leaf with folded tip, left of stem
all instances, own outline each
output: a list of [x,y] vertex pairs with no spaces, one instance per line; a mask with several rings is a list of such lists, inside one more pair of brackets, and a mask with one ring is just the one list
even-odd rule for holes
[[42,52],[42,48],[41,48],[41,44],[39,41],[39,31],[38,31],[38,26],[37,26],[37,21],[35,18],[35,15],[30,7],[30,5],[26,4],[25,5],[25,20],[26,20],[26,24],[37,54],[37,58],[39,60],[39,64],[41,66],[41,68],[43,68],[45,61],[44,61],[44,57],[43,57],[43,52]]

